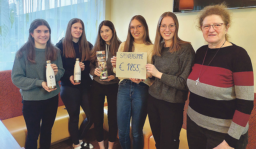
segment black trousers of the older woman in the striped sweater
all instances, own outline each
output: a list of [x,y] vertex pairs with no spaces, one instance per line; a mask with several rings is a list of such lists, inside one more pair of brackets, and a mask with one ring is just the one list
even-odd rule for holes
[[[215,132],[198,126],[187,115],[187,139],[189,149],[212,149],[224,141],[227,134]],[[241,135],[235,149],[246,149],[248,143],[248,131]]]

